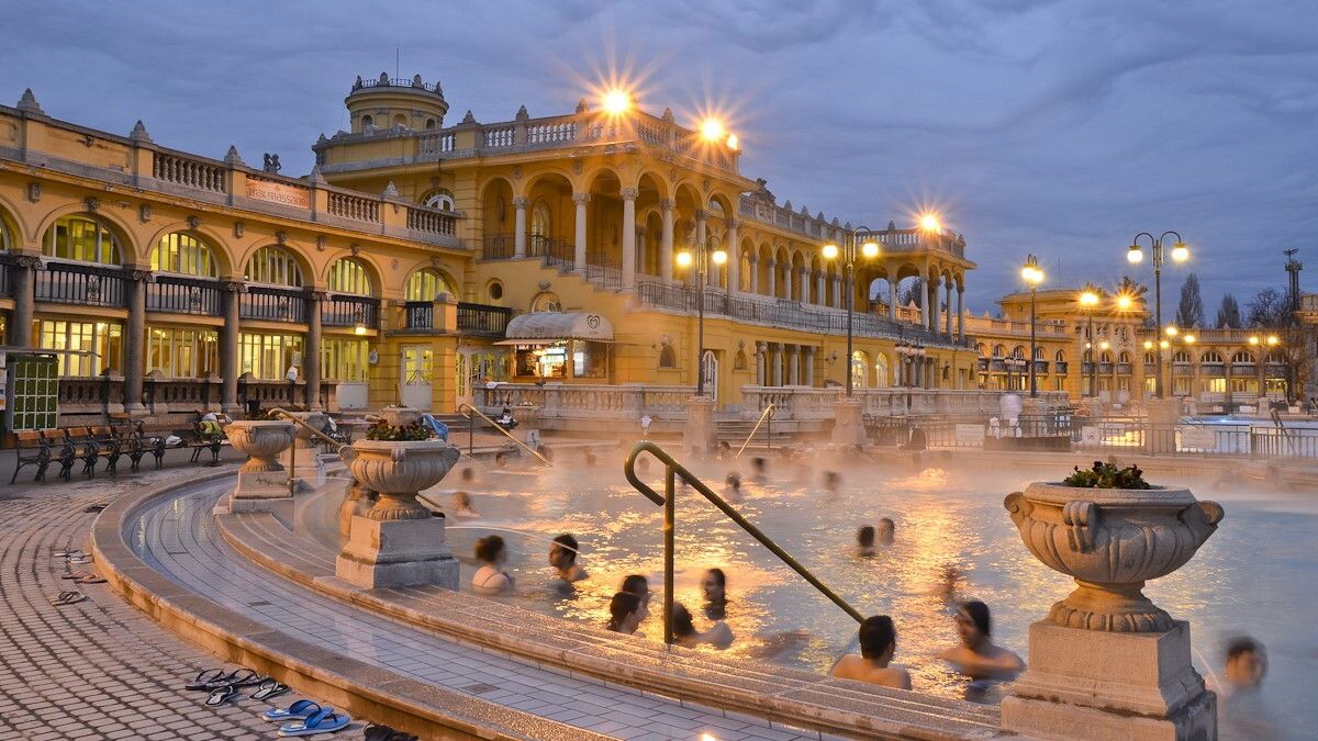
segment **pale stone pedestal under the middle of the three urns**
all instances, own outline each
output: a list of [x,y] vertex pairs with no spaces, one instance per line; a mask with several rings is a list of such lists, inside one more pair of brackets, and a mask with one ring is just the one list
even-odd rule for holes
[[335,560],[344,581],[377,587],[435,585],[457,589],[459,567],[444,542],[444,519],[352,518],[351,533]]

